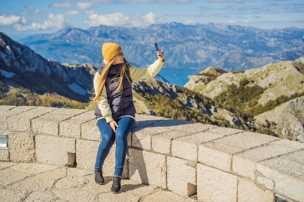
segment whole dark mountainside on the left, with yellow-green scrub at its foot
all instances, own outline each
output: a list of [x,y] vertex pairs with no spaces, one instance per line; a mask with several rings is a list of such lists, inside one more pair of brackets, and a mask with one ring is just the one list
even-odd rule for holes
[[[2,104],[81,107],[88,100],[96,68],[91,64],[60,64],[0,33]],[[89,89],[88,89],[89,88]],[[46,100],[53,104],[47,104]]]

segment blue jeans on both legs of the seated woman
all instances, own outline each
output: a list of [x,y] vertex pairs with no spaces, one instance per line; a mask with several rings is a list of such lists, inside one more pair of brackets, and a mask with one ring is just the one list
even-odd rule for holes
[[122,176],[126,155],[128,150],[128,134],[134,126],[134,119],[131,117],[121,117],[115,119],[119,127],[116,127],[116,134],[111,128],[110,124],[105,119],[97,121],[98,129],[101,133],[102,140],[99,144],[95,170],[101,170],[105,158],[109,154],[116,136],[116,151],[115,151],[115,171],[114,175]]

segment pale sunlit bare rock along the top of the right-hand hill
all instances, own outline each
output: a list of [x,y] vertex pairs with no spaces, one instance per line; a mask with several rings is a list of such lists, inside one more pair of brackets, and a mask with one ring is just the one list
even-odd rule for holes
[[215,98],[227,90],[229,85],[238,86],[241,80],[246,79],[250,81],[248,86],[257,85],[265,89],[257,100],[258,104],[264,105],[283,95],[289,97],[304,92],[304,73],[301,60],[303,59],[269,64],[239,73],[222,73],[216,79],[206,82],[207,78],[212,76],[206,76],[206,73],[212,69],[209,68],[202,71],[201,74],[191,77],[184,87]]

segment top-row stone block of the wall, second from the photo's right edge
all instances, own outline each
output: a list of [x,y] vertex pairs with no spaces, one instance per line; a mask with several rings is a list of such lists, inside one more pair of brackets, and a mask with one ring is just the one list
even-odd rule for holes
[[257,162],[288,154],[299,148],[297,146],[297,148],[284,146],[283,144],[286,141],[280,141],[282,140],[270,142],[267,145],[249,149],[242,153],[233,155],[232,172],[254,180],[255,167]]

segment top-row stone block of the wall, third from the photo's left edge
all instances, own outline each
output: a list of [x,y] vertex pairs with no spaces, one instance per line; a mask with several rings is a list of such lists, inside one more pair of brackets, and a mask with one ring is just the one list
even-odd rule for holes
[[59,135],[59,122],[68,119],[71,115],[61,114],[46,114],[37,117],[32,122],[32,130],[34,133],[41,133],[45,135]]

